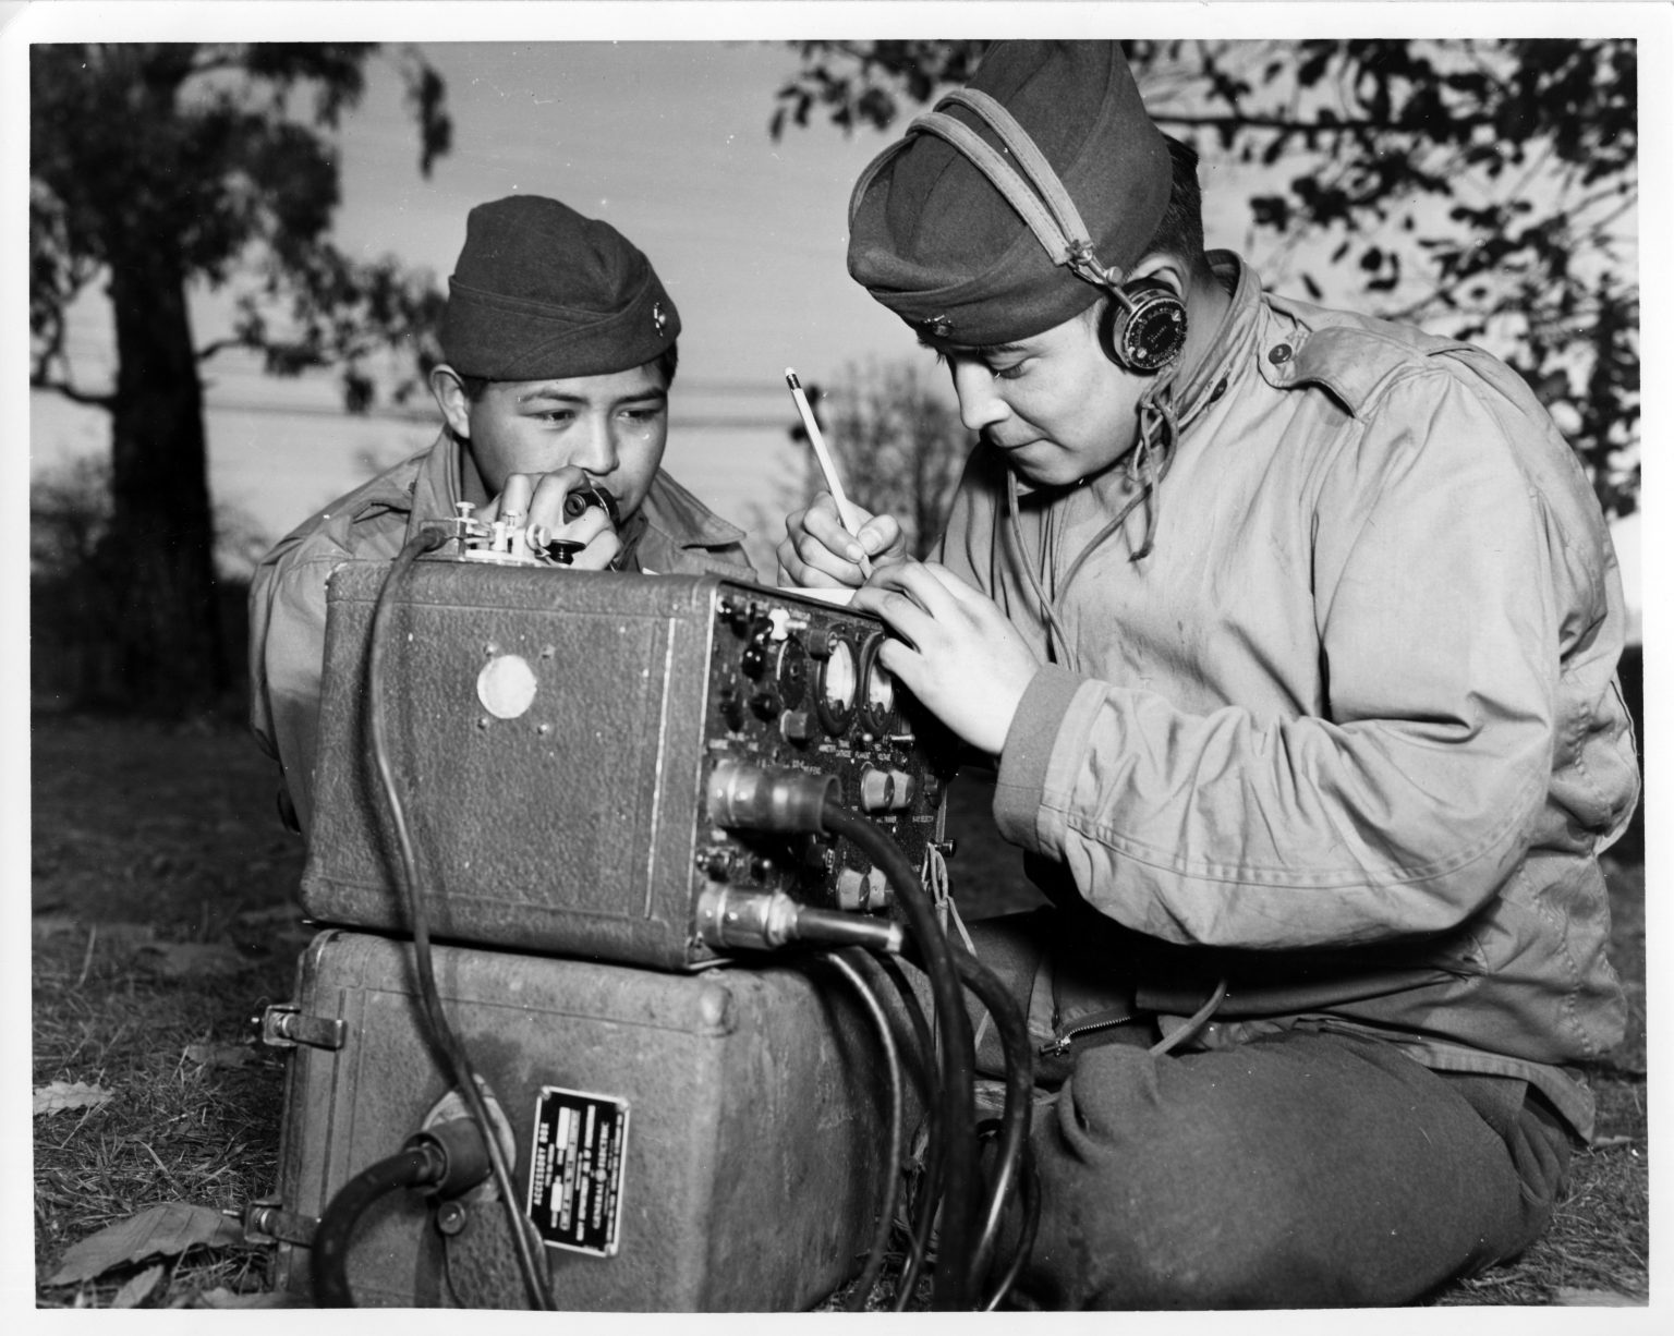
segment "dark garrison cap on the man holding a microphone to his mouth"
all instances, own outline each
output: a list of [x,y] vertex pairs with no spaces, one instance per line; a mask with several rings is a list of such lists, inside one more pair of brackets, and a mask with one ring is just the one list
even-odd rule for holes
[[447,286],[442,355],[460,375],[626,372],[680,335],[675,303],[626,236],[536,194],[470,211]]

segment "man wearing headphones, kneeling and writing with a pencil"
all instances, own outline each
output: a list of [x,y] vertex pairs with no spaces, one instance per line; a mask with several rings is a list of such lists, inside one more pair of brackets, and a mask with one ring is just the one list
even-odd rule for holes
[[870,556],[884,665],[1051,901],[973,927],[1041,1053],[1019,1292],[1399,1304],[1525,1249],[1622,1035],[1597,854],[1639,790],[1552,420],[1205,254],[1115,44],[991,49],[860,177],[849,270],[981,440],[937,561],[820,499],[780,563]]

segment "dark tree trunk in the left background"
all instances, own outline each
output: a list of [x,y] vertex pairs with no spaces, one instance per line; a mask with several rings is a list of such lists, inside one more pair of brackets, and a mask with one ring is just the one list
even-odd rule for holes
[[186,717],[216,705],[229,675],[214,598],[203,383],[171,239],[110,251],[117,380],[110,405],[109,635],[122,705]]

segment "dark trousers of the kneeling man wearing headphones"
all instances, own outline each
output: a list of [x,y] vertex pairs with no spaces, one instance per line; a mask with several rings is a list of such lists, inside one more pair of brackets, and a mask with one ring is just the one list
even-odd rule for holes
[[[1036,1046],[1051,911],[971,926]],[[1030,999],[1033,998],[1033,1006]],[[1098,999],[1085,984],[1081,1010]],[[973,1001],[973,1006],[976,1003]],[[978,1068],[1003,1075],[973,1015]],[[1438,1073],[1393,1045],[1299,1025],[1152,1055],[1148,1023],[1041,1065],[1040,1217],[1013,1303],[1050,1309],[1391,1306],[1522,1252],[1545,1229],[1570,1133],[1527,1082]],[[999,1256],[1021,1234],[1008,1209]]]

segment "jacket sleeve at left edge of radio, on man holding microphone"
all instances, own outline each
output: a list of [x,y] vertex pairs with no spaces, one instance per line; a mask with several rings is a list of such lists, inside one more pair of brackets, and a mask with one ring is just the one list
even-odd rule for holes
[[278,760],[303,832],[313,817],[325,665],[325,584],[345,554],[281,544],[249,584],[249,723]]

